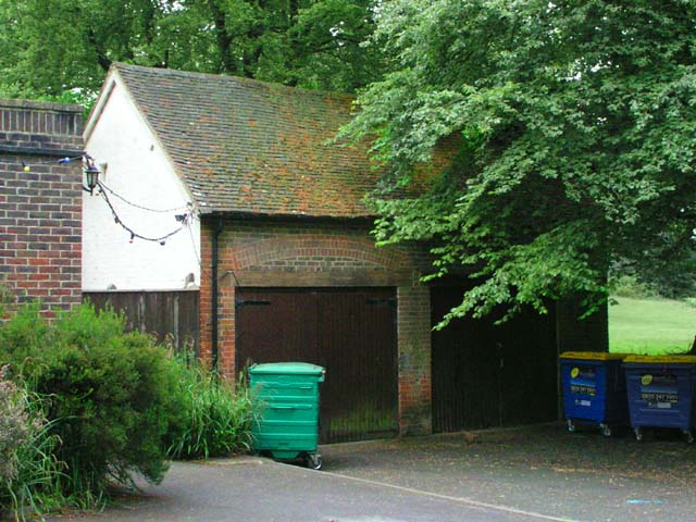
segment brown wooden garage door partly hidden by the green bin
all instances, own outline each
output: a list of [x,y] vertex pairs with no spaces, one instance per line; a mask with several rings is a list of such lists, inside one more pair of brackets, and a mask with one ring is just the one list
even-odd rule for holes
[[322,443],[398,433],[395,289],[240,288],[236,296],[237,368],[326,368]]

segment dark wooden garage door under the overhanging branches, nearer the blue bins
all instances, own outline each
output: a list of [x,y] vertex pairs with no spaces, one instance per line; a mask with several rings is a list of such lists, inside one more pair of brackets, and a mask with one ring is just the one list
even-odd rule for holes
[[[461,288],[432,288],[433,324]],[[555,318],[521,313],[502,326],[458,319],[433,332],[433,430],[529,424],[557,418]]]

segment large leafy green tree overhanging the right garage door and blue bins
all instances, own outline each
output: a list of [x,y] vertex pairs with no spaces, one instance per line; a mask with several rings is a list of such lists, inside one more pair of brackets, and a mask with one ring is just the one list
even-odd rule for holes
[[[694,250],[696,4],[393,0],[391,72],[345,135],[374,138],[383,244],[428,241],[473,286],[451,315],[607,295],[607,271],[679,271]],[[451,166],[412,195],[444,138]],[[422,177],[422,176],[421,176]],[[411,196],[405,196],[411,194]]]

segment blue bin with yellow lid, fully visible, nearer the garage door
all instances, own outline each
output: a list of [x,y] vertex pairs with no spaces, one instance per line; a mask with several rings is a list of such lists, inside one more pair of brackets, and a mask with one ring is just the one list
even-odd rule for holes
[[598,426],[605,436],[629,425],[623,353],[567,351],[558,358],[568,431]]

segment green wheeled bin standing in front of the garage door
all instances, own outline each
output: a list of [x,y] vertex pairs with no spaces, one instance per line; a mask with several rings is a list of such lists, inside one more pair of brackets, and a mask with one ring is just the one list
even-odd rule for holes
[[319,470],[319,385],[326,370],[304,362],[253,364],[249,385],[254,394],[257,420],[251,447],[276,460],[304,459]]

